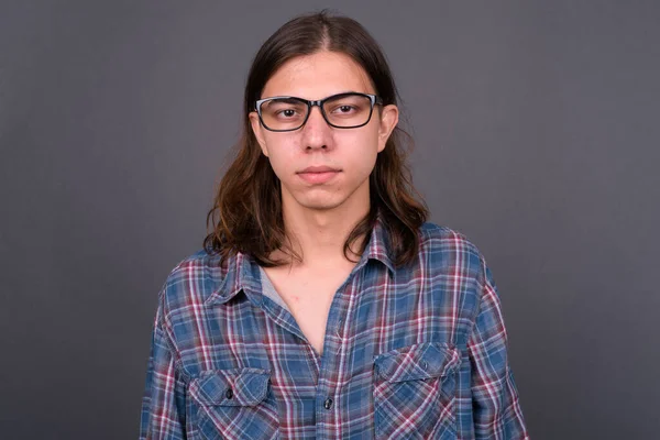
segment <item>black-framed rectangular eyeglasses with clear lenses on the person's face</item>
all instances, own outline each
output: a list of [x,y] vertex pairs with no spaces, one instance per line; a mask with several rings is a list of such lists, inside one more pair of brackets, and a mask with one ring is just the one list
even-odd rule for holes
[[330,127],[356,129],[371,120],[375,105],[383,105],[375,95],[348,92],[317,101],[287,96],[264,98],[256,101],[255,110],[262,125],[270,131],[298,130],[307,122],[314,106],[321,109]]

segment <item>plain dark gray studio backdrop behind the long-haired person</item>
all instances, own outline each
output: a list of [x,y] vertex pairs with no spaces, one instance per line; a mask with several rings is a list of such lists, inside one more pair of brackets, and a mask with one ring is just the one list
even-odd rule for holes
[[0,437],[129,439],[244,77],[292,15],[381,42],[432,220],[495,275],[535,439],[660,428],[658,2],[0,3]]

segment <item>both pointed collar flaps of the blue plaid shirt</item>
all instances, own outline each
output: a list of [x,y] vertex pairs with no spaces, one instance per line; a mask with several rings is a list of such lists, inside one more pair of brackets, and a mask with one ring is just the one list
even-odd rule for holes
[[[380,261],[387,267],[389,275],[394,275],[394,263],[389,257],[389,241],[381,215],[376,217],[370,240],[355,270],[361,270],[370,260]],[[227,260],[227,268],[222,272],[226,272],[224,276],[205,301],[207,306],[226,304],[241,290],[245,292],[255,305],[261,305],[261,275],[254,258],[239,252]]]

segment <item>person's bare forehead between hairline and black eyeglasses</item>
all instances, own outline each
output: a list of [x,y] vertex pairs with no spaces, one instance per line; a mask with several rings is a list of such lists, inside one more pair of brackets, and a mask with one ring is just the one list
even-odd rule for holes
[[337,52],[319,52],[283,64],[266,82],[262,98],[321,99],[343,91],[375,92],[369,75],[353,58]]

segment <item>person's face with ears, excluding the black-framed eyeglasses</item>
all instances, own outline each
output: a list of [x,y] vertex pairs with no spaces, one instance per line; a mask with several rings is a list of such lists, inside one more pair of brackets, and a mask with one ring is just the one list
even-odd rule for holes
[[[285,63],[266,82],[262,98],[294,96],[309,100],[358,91],[375,94],[364,69],[348,55],[320,52]],[[301,208],[331,210],[369,207],[369,176],[377,154],[398,122],[396,106],[374,106],[366,125],[330,127],[320,108],[312,107],[302,128],[272,132],[250,113],[262,152],[282,183],[285,212]]]

